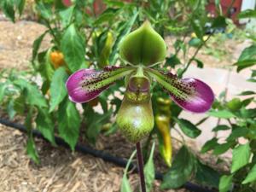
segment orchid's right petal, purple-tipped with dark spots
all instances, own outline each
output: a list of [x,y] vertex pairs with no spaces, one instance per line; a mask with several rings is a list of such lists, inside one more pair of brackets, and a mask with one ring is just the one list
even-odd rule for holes
[[177,79],[172,73],[163,74],[153,69],[148,73],[172,97],[181,108],[195,113],[203,113],[212,107],[212,89],[199,79]]

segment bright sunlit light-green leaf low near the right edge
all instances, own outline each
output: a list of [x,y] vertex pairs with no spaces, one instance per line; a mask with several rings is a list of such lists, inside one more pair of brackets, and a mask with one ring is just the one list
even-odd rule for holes
[[236,172],[241,167],[246,166],[250,160],[251,148],[249,143],[239,145],[233,149],[231,173]]

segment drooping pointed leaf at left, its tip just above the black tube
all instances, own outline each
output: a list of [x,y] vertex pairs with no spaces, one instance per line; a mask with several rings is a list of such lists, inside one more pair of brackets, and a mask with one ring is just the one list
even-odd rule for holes
[[38,131],[40,131],[50,143],[55,145],[55,124],[47,108],[38,108],[36,124]]

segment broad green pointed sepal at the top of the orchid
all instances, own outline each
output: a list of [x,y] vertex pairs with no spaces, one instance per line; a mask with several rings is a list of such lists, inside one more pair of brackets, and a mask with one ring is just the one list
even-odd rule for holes
[[150,66],[165,59],[166,43],[146,20],[123,39],[119,51],[121,58],[132,65]]

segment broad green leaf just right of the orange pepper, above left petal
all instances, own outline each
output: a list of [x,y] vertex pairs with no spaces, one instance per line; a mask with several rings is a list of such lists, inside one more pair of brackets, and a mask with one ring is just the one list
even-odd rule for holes
[[68,26],[61,38],[61,51],[64,54],[67,66],[72,72],[83,67],[85,61],[84,39],[77,32],[74,24]]

